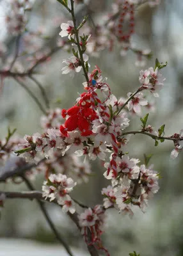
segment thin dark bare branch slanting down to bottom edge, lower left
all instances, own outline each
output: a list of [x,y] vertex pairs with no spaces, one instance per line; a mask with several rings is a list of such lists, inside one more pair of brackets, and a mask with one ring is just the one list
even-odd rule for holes
[[[26,183],[26,185],[28,186],[29,190],[34,191],[35,188],[33,187],[33,185],[31,184],[31,182],[29,182],[29,180],[22,175],[22,179],[24,180],[24,182]],[[68,246],[68,244],[65,242],[65,240],[60,236],[60,234],[58,233],[58,231],[56,230],[56,227],[54,226],[54,223],[52,223],[51,218],[49,217],[49,214],[47,213],[47,210],[45,209],[45,205],[43,202],[41,202],[39,199],[36,199],[36,201],[38,202],[38,205],[40,206],[40,209],[42,211],[42,213],[45,216],[45,219],[47,220],[47,223],[49,224],[49,226],[51,227],[52,232],[54,233],[54,235],[56,236],[56,239],[58,239],[58,241],[60,241],[60,243],[63,245],[63,247],[65,248],[65,250],[68,252],[68,255],[70,256],[74,256]]]

